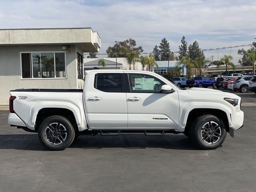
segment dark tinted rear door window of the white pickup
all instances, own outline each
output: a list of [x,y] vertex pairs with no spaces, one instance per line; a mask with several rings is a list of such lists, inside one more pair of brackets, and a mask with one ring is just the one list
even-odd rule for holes
[[122,92],[120,73],[98,73],[94,88],[104,92]]

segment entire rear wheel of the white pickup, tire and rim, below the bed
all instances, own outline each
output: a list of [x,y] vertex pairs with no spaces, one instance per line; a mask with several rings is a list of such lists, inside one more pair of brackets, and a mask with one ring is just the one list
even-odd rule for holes
[[75,130],[68,119],[62,116],[50,116],[40,124],[38,137],[45,148],[64,150],[72,144]]

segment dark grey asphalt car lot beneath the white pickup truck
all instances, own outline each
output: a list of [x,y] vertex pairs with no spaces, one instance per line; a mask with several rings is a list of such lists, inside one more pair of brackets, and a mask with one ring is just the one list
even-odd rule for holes
[[48,151],[0,111],[0,192],[255,191],[256,94],[233,93],[242,97],[244,127],[216,150],[198,150],[183,134],[134,134],[80,136]]

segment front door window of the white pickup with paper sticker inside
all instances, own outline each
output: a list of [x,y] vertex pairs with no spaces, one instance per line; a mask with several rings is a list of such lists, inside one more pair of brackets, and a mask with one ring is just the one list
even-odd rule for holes
[[162,85],[166,84],[147,74],[128,74],[128,81],[132,93],[160,93]]

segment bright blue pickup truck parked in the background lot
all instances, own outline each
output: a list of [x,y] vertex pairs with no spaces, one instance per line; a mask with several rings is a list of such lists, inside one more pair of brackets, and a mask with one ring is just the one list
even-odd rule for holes
[[215,79],[211,79],[209,77],[195,77],[193,80],[187,80],[186,81],[187,86],[192,87],[209,87],[212,86],[212,88],[217,87],[217,82]]

